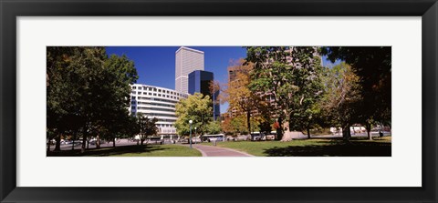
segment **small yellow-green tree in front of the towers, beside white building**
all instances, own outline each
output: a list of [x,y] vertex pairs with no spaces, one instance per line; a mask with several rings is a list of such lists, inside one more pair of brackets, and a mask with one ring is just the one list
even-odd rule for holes
[[175,105],[175,115],[178,117],[175,127],[180,136],[189,135],[189,120],[193,120],[192,129],[197,127],[197,132],[203,134],[205,132],[205,125],[213,117],[212,100],[210,96],[194,93],[192,96],[181,99]]

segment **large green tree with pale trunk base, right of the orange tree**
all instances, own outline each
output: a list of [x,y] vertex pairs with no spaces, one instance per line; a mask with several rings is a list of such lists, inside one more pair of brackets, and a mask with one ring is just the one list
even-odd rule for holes
[[[249,46],[246,60],[254,63],[251,89],[274,96],[276,112],[283,128],[282,141],[297,137],[311,121],[308,111],[322,94],[318,89],[321,69],[317,47],[310,46]],[[298,119],[299,118],[299,119]],[[291,121],[299,121],[294,125]],[[294,129],[292,131],[291,129]]]

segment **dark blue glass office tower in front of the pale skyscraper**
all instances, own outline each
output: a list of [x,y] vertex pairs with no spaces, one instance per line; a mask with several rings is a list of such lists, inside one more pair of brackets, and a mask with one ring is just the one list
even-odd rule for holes
[[217,102],[219,96],[219,89],[214,89],[214,94],[210,91],[210,83],[214,81],[214,74],[212,72],[195,70],[189,74],[189,94],[193,95],[199,92],[204,96],[210,96],[213,105],[213,119],[221,117],[221,110]]

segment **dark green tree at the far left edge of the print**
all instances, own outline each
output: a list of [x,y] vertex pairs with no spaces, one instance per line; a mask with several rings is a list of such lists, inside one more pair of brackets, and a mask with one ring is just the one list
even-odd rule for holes
[[57,132],[56,148],[60,136],[72,129],[66,122],[68,117],[78,117],[84,135],[87,121],[98,115],[89,111],[89,90],[105,58],[104,49],[99,47],[47,47],[47,128]]

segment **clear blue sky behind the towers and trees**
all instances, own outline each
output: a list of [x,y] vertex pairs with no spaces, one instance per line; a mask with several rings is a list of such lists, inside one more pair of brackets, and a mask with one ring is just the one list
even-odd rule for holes
[[[108,55],[126,55],[134,61],[139,79],[137,83],[151,86],[175,88],[175,51],[180,46],[108,46]],[[204,70],[214,73],[214,79],[227,82],[226,68],[231,60],[246,57],[246,50],[241,46],[187,46],[204,53]],[[331,65],[323,57],[323,64]],[[221,113],[227,104],[221,106]]]

